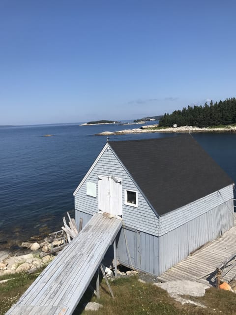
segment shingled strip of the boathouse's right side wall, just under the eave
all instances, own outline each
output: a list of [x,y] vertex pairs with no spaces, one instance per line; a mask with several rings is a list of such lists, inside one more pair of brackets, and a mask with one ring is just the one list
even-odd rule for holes
[[[211,209],[221,205],[224,201],[233,200],[233,198],[233,185],[229,185],[220,189],[219,192],[215,191],[201,199],[161,216],[159,236],[176,229],[188,221],[194,220]],[[233,208],[231,208],[231,210],[232,209]]]

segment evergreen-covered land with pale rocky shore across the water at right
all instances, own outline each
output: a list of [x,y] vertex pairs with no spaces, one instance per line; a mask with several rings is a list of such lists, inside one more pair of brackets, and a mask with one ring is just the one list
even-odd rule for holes
[[[214,104],[211,100],[209,105],[205,103],[204,106],[183,107],[182,110],[175,110],[171,114],[165,113],[163,116],[154,117],[160,118],[158,125],[115,132],[104,131],[98,135],[142,132],[236,132],[236,98],[227,98]],[[138,121],[136,120],[137,124]]]

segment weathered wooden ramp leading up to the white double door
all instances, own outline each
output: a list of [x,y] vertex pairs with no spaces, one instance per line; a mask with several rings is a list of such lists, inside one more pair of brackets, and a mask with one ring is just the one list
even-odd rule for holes
[[72,314],[121,226],[95,214],[6,314]]

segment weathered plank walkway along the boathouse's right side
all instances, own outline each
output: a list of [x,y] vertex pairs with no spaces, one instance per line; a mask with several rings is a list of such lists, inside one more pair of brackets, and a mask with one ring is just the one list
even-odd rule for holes
[[[214,285],[216,266],[234,253],[236,256],[236,225],[193,256],[181,260],[157,279],[161,282],[190,280]],[[235,258],[229,261],[222,271],[222,280],[227,283],[236,277]]]

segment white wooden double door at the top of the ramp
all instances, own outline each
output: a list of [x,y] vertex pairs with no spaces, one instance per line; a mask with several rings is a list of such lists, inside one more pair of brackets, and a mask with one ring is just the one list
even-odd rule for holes
[[98,176],[98,209],[115,216],[122,216],[122,184],[110,176]]

